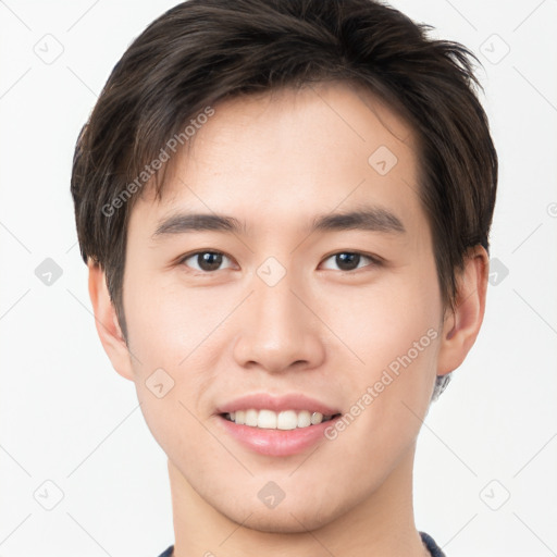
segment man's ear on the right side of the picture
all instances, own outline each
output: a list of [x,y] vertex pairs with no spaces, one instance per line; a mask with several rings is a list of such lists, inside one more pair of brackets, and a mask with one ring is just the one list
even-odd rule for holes
[[470,248],[457,276],[456,309],[446,310],[437,359],[437,375],[458,368],[475,342],[485,312],[490,257],[481,245]]

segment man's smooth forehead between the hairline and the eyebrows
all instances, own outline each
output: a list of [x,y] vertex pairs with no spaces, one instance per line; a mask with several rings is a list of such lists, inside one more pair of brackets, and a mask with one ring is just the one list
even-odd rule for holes
[[420,210],[414,134],[362,87],[314,84],[212,108],[172,161],[162,197],[154,200],[149,188],[141,196],[144,216],[233,213],[249,227],[260,218],[286,225],[294,215],[301,224],[370,202],[406,220]]

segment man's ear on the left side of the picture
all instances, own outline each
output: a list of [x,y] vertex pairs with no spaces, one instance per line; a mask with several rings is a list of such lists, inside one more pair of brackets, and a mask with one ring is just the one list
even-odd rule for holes
[[132,360],[124,335],[117,322],[116,310],[110,299],[107,276],[98,263],[89,262],[89,296],[100,342],[112,367],[123,376],[134,380]]

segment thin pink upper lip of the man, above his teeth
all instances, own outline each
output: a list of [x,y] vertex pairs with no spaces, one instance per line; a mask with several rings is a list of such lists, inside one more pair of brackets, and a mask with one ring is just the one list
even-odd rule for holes
[[270,395],[269,393],[253,393],[234,398],[216,408],[216,413],[230,413],[237,410],[309,410],[310,412],[321,412],[323,416],[334,416],[341,413],[341,410],[329,406],[315,398],[293,393],[288,395]]

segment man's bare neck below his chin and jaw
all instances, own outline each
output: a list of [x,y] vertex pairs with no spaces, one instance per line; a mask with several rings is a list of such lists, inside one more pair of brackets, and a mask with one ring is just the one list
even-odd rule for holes
[[382,485],[359,505],[319,529],[301,533],[261,532],[231,520],[202,499],[169,460],[174,557],[424,557],[429,553],[413,521],[413,453],[412,446]]

